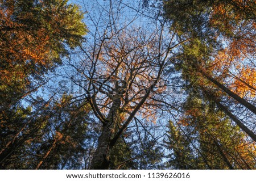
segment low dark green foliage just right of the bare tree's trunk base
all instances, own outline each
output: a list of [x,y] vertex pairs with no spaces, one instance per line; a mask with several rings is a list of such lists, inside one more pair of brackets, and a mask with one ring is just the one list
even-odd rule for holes
[[125,137],[118,140],[113,148],[114,154],[110,155],[110,169],[163,168],[161,167],[163,150],[154,139],[148,138],[147,134],[138,135],[132,131],[125,132],[124,135],[132,141],[127,141]]

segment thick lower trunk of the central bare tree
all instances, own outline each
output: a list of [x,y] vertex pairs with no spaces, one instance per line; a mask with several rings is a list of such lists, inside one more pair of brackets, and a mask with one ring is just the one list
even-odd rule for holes
[[90,169],[108,169],[109,157],[114,145],[110,145],[115,134],[116,125],[119,117],[119,107],[121,96],[115,96],[112,107],[110,108],[107,120],[108,123],[102,125],[101,136],[98,138],[98,146],[92,159]]

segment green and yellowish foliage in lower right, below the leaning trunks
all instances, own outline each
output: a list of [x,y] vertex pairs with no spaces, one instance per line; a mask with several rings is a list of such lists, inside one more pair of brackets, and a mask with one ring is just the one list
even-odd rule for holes
[[[175,128],[170,124],[167,141],[176,169],[255,169],[254,143],[225,113],[200,95],[190,95],[184,116]],[[239,149],[238,149],[239,148]],[[183,166],[187,163],[186,166]]]

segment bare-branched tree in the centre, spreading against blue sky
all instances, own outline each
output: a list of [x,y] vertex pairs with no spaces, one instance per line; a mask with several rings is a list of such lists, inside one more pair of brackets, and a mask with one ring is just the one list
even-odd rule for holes
[[[156,120],[160,94],[166,90],[163,71],[171,64],[172,50],[186,40],[178,41],[168,32],[163,19],[123,2],[96,1],[93,6],[98,12],[87,9],[93,25],[88,26],[88,41],[80,59],[68,64],[74,70],[72,81],[84,89],[79,97],[88,100],[102,123],[90,169],[108,169],[112,148],[135,115]],[[150,24],[144,24],[146,20]]]

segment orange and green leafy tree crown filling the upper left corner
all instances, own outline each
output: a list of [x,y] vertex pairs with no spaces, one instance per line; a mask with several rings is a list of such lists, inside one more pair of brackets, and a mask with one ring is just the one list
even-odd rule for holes
[[86,26],[79,6],[66,0],[0,1],[0,111],[37,90],[81,44]]

